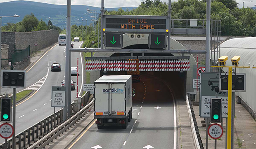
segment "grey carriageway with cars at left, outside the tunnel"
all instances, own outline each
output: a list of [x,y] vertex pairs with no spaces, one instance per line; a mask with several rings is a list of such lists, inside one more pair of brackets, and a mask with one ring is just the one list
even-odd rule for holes
[[[74,47],[79,47],[82,42],[73,42]],[[80,75],[78,78],[78,93],[82,86],[82,69],[81,55],[78,52],[71,53],[71,66],[77,66],[77,58],[79,58]],[[83,57],[82,57],[83,58]],[[59,62],[61,64],[61,72],[51,72],[51,64]],[[27,87],[44,78],[40,85],[41,87],[32,93],[31,98],[28,98],[17,104],[16,107],[16,131],[18,134],[30,126],[38,123],[42,119],[54,113],[54,108],[51,107],[51,86],[61,86],[65,75],[65,46],[58,44],[50,49],[30,70],[27,72]],[[71,79],[76,81],[77,76],[72,76]],[[76,90],[71,91],[72,100],[76,98]],[[60,108],[56,108],[56,111]],[[1,138],[0,142],[4,142]]]

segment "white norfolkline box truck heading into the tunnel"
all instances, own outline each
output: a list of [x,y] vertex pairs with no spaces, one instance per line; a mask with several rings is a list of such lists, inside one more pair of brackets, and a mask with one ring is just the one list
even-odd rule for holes
[[102,76],[94,82],[94,118],[98,129],[104,125],[126,128],[132,119],[131,75]]

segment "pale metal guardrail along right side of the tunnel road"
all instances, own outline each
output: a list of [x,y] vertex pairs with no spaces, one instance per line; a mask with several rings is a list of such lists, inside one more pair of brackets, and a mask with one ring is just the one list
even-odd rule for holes
[[199,145],[198,138],[197,138],[197,132],[196,132],[196,129],[194,127],[194,120],[193,120],[193,116],[192,116],[191,109],[190,109],[190,103],[188,102],[187,94],[186,94],[186,102],[187,102],[187,112],[188,112],[189,117],[190,117],[190,126],[191,126],[191,129],[192,129],[192,136],[194,138],[193,139],[194,140],[194,145],[197,149],[200,149],[200,145]]

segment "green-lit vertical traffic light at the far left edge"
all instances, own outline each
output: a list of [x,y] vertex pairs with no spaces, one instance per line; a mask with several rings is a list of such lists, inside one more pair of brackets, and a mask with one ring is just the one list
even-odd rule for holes
[[1,98],[1,122],[12,121],[12,99]]

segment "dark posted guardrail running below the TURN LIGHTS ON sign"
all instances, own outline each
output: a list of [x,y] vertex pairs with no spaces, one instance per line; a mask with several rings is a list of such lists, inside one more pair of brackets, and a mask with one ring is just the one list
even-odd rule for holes
[[[3,95],[3,96],[5,96],[5,95]],[[0,97],[2,97],[2,96],[0,96]],[[86,92],[81,97],[81,102],[83,103],[83,105],[86,105],[86,103],[89,100],[89,97],[90,97],[90,92]],[[73,104],[71,106],[73,106]],[[86,107],[88,107],[88,106],[86,105],[81,110],[83,110],[83,109],[86,110]],[[77,115],[77,114],[75,114],[75,115]],[[59,126],[62,126],[62,124],[69,121],[73,116],[65,122],[63,122],[62,117],[63,117],[63,109],[60,109],[59,111],[55,112],[55,114],[51,114],[50,116],[46,117],[42,121],[36,123],[35,125],[24,130],[23,132],[17,134],[15,136],[16,148],[18,147],[19,149],[21,149],[21,148],[26,148],[26,146],[31,146],[33,143],[39,141],[44,136],[46,136],[48,133],[55,130],[56,127],[58,128]],[[12,138],[7,140],[7,148],[8,149],[12,148]],[[0,144],[0,149],[5,149],[5,143]]]

